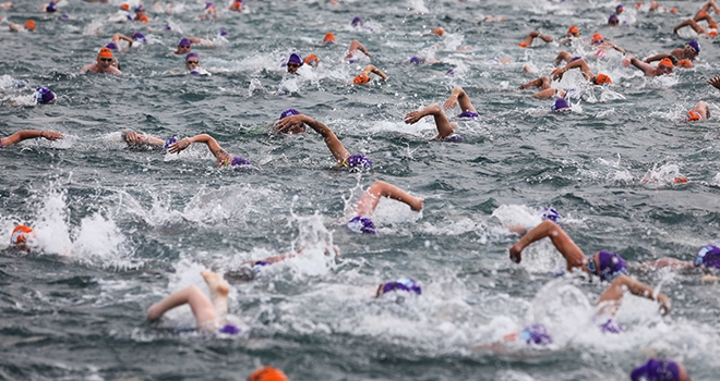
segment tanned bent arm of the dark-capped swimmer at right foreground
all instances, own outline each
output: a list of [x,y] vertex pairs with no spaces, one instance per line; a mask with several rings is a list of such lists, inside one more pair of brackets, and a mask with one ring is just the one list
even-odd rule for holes
[[523,260],[523,250],[536,241],[550,237],[552,244],[567,261],[567,271],[574,268],[583,268],[587,257],[573,239],[556,223],[545,220],[527,232],[513,247],[511,247],[511,259],[519,263]]

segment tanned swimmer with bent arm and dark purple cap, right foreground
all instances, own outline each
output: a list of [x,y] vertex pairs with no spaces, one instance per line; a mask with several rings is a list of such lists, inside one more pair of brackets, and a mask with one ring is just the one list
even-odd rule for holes
[[615,276],[627,273],[627,266],[621,256],[602,250],[596,253],[591,258],[586,257],[567,233],[550,220],[542,221],[529,230],[513,245],[509,249],[511,259],[515,263],[519,263],[523,260],[523,250],[531,243],[544,237],[550,237],[555,248],[565,257],[568,272],[584,271],[600,276],[602,281],[612,281]]

